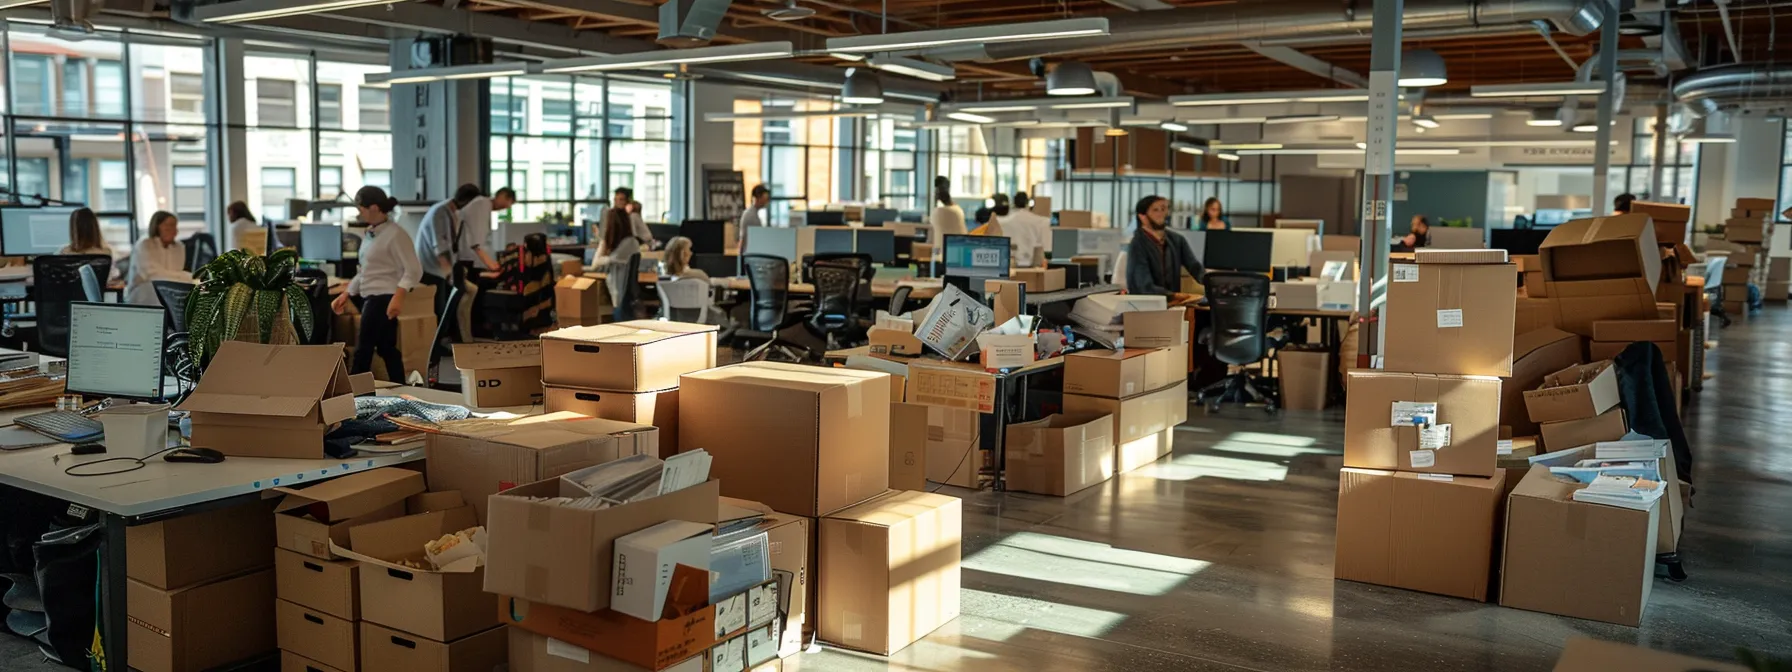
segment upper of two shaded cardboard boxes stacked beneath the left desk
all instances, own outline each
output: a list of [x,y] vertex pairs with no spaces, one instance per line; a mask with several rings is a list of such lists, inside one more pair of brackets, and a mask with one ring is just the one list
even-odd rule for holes
[[174,590],[274,563],[274,505],[253,502],[125,527],[125,575]]

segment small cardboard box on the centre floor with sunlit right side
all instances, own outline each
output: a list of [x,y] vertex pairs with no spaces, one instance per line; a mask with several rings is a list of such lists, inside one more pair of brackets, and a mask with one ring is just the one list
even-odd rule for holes
[[1115,475],[1113,418],[1052,414],[1007,426],[1007,489],[1072,495]]

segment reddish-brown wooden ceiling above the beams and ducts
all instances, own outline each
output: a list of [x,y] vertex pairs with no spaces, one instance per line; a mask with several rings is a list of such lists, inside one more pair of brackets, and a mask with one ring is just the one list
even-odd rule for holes
[[[532,22],[561,22],[577,30],[599,30],[611,36],[654,39],[658,27],[650,18],[652,0],[430,0],[453,4],[475,13],[495,13]],[[774,22],[762,11],[783,5],[783,0],[735,0],[720,27],[717,43],[756,41],[774,36],[788,39],[799,50],[819,50],[826,38],[874,34],[883,30],[887,7],[889,32],[961,27],[978,23],[1036,22],[1064,16],[1111,16],[1127,13],[1106,0],[796,0],[815,9],[815,14],[797,22]],[[1168,0],[1177,7],[1253,4],[1278,0]],[[627,7],[633,5],[633,7]],[[616,7],[634,9],[622,13]],[[633,16],[624,16],[633,14]],[[1792,59],[1792,2],[1733,0],[1733,27],[1745,61]],[[1681,29],[1690,65],[1733,63],[1735,54],[1726,43],[1724,25],[1715,7],[1695,5],[1674,14]],[[1516,27],[1521,29],[1521,27]],[[1598,36],[1555,34],[1557,43],[1575,61],[1593,57]],[[1306,56],[1326,61],[1353,73],[1367,73],[1369,43],[1292,45]],[[1443,91],[1462,91],[1473,84],[1511,84],[1538,81],[1564,81],[1573,77],[1570,66],[1541,36],[1514,27],[1489,27],[1482,34],[1452,38],[1409,38],[1407,48],[1434,48],[1450,68],[1450,84]],[[1641,38],[1625,36],[1624,48],[1645,48]],[[1163,97],[1197,91],[1272,91],[1348,86],[1328,77],[1294,68],[1260,56],[1242,45],[1172,47],[1134,52],[1091,52],[1075,56],[1095,70],[1113,72],[1133,95]],[[810,63],[848,66],[833,57],[806,57]],[[1038,77],[1025,63],[957,63],[953,82],[961,99],[1016,97],[1041,93]],[[1633,81],[1636,75],[1633,75]]]

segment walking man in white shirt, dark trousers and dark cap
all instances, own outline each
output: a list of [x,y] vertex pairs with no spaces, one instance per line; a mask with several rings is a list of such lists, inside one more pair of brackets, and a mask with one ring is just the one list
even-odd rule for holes
[[330,308],[340,314],[349,301],[360,308],[349,371],[373,371],[373,355],[378,353],[385,360],[387,380],[403,383],[405,355],[398,349],[398,315],[405,312],[405,294],[423,278],[423,263],[418,262],[410,235],[392,220],[398,199],[378,186],[362,186],[355,192],[355,210],[367,224],[367,240],[360,246],[360,272]]

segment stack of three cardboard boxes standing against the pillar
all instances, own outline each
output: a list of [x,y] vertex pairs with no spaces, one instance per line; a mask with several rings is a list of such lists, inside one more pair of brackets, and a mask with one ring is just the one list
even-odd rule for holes
[[1518,271],[1503,251],[1416,262],[1389,276],[1385,371],[1349,373],[1335,573],[1486,600]]

